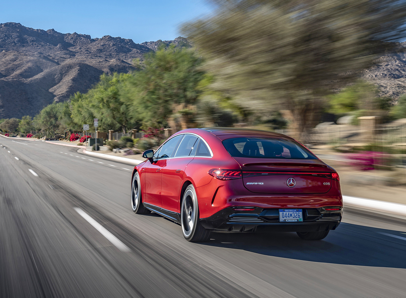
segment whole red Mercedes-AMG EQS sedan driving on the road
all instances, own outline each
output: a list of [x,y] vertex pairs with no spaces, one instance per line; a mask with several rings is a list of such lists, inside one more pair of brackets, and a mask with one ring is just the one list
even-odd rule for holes
[[320,240],[341,222],[337,172],[283,134],[194,128],[143,157],[132,173],[133,211],[179,223],[188,241],[206,241],[210,231]]

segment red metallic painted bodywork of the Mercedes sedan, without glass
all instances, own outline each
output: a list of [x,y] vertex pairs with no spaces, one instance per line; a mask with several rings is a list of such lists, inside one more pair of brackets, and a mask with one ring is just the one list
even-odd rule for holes
[[[293,138],[273,132],[259,132],[249,130],[222,130],[209,132],[204,129],[187,129],[181,133],[193,133],[201,136],[212,149],[213,157],[194,158],[172,158],[158,161],[153,165],[147,160],[134,167],[134,172],[138,171],[141,180],[141,191],[143,201],[163,207],[165,209],[179,212],[181,204],[181,188],[184,183],[192,183],[196,190],[200,218],[207,218],[216,212],[227,207],[250,206],[262,208],[319,208],[325,206],[342,206],[342,195],[339,181],[331,178],[318,178],[313,181],[306,181],[306,176],[280,175],[273,176],[276,184],[284,184],[289,177],[294,177],[298,187],[289,191],[289,188],[281,186],[279,193],[250,191],[244,186],[243,179],[233,179],[222,181],[208,174],[212,168],[255,170],[266,169],[267,171],[306,171],[306,172],[335,172],[333,168],[317,160],[275,160],[257,158],[232,158],[222,145],[222,140],[227,138],[260,136],[281,138],[291,140]],[[259,165],[260,163],[260,165]],[[161,181],[156,173],[156,168],[163,168],[162,191],[158,188]],[[181,172],[173,173],[176,169]],[[144,170],[145,169],[145,170]],[[149,181],[152,177],[153,181]],[[257,178],[257,177],[253,177]],[[261,177],[260,177],[261,178]],[[245,179],[248,178],[244,178]],[[251,179],[251,178],[249,178]],[[248,180],[247,180],[248,181]],[[323,185],[329,182],[330,186]],[[319,186],[317,186],[319,183]],[[321,183],[321,184],[320,184]],[[307,189],[308,188],[308,189]],[[252,189],[254,190],[254,189]],[[265,190],[269,191],[269,190]],[[290,193],[289,193],[290,192]],[[311,193],[309,193],[311,192]],[[216,194],[214,196],[214,194]],[[161,203],[162,202],[162,203]]]

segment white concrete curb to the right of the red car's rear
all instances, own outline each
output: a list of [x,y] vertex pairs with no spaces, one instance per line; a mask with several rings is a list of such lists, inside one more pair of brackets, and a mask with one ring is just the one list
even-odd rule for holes
[[371,199],[357,198],[343,196],[343,203],[352,207],[360,207],[378,212],[386,212],[389,214],[396,214],[400,216],[406,216],[406,205],[377,201]]

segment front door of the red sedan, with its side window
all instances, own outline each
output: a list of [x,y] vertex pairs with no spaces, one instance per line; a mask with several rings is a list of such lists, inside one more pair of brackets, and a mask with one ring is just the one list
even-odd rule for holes
[[173,150],[182,135],[167,140],[154,154],[154,161],[145,169],[145,203],[162,207],[161,186],[162,169],[166,167],[167,160],[171,157]]

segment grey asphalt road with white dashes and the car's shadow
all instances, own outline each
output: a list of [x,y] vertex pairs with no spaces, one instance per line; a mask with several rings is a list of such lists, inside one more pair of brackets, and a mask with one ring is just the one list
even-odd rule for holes
[[405,220],[347,208],[322,241],[214,233],[190,243],[179,225],[132,212],[132,166],[0,144],[1,297],[406,297]]

